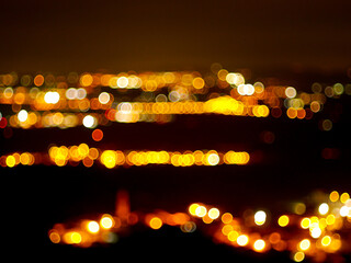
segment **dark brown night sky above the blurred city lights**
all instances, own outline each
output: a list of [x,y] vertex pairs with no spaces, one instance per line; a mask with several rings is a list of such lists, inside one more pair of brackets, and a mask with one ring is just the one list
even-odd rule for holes
[[341,70],[350,1],[2,1],[0,71]]

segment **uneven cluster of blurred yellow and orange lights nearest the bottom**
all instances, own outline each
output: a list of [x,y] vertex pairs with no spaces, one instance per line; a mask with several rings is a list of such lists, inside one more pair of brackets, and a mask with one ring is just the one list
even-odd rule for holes
[[[117,199],[114,216],[104,214],[97,220],[83,219],[69,229],[57,224],[48,236],[53,243],[90,247],[94,242],[116,242],[122,228],[136,224],[155,230],[169,225],[183,232],[201,230],[216,242],[237,249],[258,253],[290,251],[295,262],[305,258],[317,262],[332,261],[333,256],[350,252],[347,243],[350,242],[351,198],[348,193],[340,195],[337,191],[325,196],[326,202],[317,204],[310,211],[306,210],[305,204],[297,203],[293,214],[272,215],[264,209],[248,209],[241,217],[202,203],[191,204],[188,213],[131,213],[125,207],[126,201]],[[211,227],[206,227],[208,225]]]

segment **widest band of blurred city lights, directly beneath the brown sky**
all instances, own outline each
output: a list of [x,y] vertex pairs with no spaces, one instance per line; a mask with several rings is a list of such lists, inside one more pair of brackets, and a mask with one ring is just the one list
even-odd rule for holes
[[[133,89],[136,92],[129,91]],[[312,92],[294,87],[246,83],[239,72],[121,72],[68,76],[0,75],[2,128],[94,128],[110,122],[172,121],[178,114],[225,114],[309,119],[327,99],[351,94],[351,84],[314,83]],[[12,113],[11,113],[12,112]],[[329,119],[326,119],[327,122]],[[330,122],[330,121],[329,121]],[[328,123],[322,127],[329,130]]]

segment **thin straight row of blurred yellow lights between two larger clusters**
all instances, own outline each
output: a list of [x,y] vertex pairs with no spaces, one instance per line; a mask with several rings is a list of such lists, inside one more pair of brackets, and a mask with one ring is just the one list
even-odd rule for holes
[[0,157],[0,165],[13,168],[19,164],[56,164],[64,167],[67,164],[78,165],[80,162],[90,168],[95,161],[102,163],[105,168],[148,164],[170,164],[173,167],[192,167],[192,165],[220,165],[238,164],[245,165],[249,162],[250,155],[246,151],[227,151],[218,152],[216,150],[185,150],[185,151],[136,151],[136,150],[101,150],[89,147],[87,144],[79,146],[52,146],[48,152],[30,153],[14,152]]

